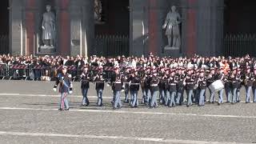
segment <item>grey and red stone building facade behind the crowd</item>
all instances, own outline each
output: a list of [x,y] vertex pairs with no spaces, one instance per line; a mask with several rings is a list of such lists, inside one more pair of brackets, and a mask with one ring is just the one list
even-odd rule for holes
[[[99,1],[110,10],[102,10],[103,17],[108,17],[108,25],[95,24],[94,0],[9,0],[10,53],[42,54],[40,26],[49,4],[56,14],[54,54],[98,54],[102,50],[95,47],[95,35],[115,32],[129,36],[129,55],[149,52],[174,57],[222,54],[224,4],[228,0],[118,0],[114,8],[110,7],[115,5],[114,0]],[[123,3],[127,6],[113,11]],[[182,17],[182,46],[178,50],[165,50],[167,38],[162,25],[174,5]]]

